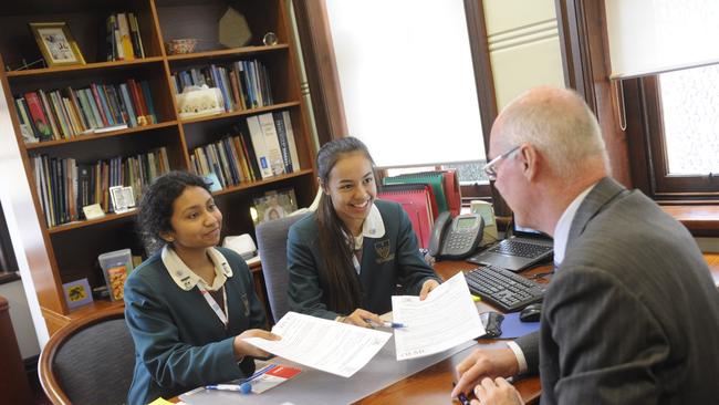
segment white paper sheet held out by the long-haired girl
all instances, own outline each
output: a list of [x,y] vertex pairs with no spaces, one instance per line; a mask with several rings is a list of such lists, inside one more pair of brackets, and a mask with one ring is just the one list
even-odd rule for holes
[[405,325],[395,329],[397,360],[439,353],[486,333],[461,272],[433,290],[425,301],[394,295],[392,312],[394,321]]

